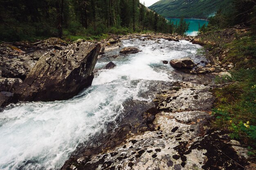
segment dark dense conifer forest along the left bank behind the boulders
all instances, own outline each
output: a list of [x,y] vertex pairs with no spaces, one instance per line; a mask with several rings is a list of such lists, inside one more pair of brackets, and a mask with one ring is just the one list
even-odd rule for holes
[[0,3],[0,41],[44,37],[97,39],[106,33],[143,31],[181,33],[178,27],[139,0],[4,0]]

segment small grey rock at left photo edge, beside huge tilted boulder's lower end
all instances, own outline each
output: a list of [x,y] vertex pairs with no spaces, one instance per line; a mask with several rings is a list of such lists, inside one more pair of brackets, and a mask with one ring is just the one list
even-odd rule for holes
[[14,92],[22,83],[20,78],[0,78],[0,92]]

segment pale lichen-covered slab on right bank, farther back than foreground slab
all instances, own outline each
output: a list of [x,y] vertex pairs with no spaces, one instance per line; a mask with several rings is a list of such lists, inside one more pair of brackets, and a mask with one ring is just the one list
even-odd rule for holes
[[154,102],[159,110],[171,112],[211,110],[214,97],[210,86],[178,83],[156,94]]

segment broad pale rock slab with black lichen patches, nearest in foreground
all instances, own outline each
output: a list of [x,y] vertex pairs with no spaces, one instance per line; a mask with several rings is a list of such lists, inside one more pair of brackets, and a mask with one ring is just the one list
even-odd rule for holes
[[[66,169],[243,170],[241,166],[247,166],[248,163],[242,156],[247,150],[243,150],[243,154],[240,153],[241,150],[235,150],[228,135],[213,132],[197,137],[197,131],[190,131],[189,128],[183,130],[168,133],[161,130],[146,131],[130,137],[107,152],[92,155],[90,158],[79,157]],[[236,145],[240,145],[239,142]]]

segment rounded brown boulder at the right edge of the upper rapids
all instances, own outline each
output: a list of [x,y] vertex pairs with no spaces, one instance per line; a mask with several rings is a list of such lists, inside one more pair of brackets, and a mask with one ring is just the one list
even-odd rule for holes
[[193,60],[189,57],[171,60],[170,64],[173,68],[193,68],[195,65]]

